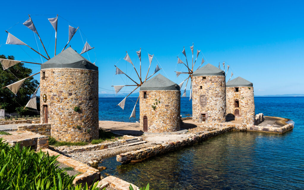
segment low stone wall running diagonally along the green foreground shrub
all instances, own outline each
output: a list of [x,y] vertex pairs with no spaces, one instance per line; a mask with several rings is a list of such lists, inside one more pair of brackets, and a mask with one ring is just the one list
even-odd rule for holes
[[58,162],[72,167],[74,168],[74,170],[82,173],[76,176],[73,181],[74,184],[88,183],[89,186],[92,185],[94,180],[98,181],[100,179],[100,172],[97,169],[88,166],[87,164],[83,164],[81,162],[73,160],[50,149],[43,149],[42,151],[48,152],[50,156],[60,155],[59,157],[57,157]]

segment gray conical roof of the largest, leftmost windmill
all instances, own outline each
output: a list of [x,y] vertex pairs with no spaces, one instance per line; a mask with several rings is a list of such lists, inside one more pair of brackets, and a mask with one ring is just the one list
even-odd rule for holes
[[55,57],[47,60],[41,65],[41,69],[50,68],[75,68],[75,69],[88,69],[98,71],[98,67],[82,57],[71,47],[56,55]]

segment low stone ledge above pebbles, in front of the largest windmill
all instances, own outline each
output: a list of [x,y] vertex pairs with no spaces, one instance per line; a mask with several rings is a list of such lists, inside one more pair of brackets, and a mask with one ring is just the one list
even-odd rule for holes
[[[133,136],[124,135],[124,137],[133,137]],[[63,154],[66,154],[66,153],[73,153],[73,152],[102,150],[102,149],[130,144],[130,143],[137,143],[140,141],[143,141],[143,138],[141,138],[141,137],[134,138],[133,137],[130,139],[118,140],[118,141],[114,141],[114,142],[110,142],[110,143],[99,143],[99,144],[94,144],[94,145],[90,145],[90,146],[75,147],[74,149],[68,149],[68,150],[65,150],[65,147],[54,147],[54,149],[62,152]]]

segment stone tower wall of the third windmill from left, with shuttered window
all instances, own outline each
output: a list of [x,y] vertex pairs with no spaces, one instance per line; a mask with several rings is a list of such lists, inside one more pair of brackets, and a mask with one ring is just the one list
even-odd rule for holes
[[[206,95],[206,105],[200,104],[200,95]],[[225,121],[226,82],[224,76],[192,77],[192,120],[200,122],[201,114],[206,114],[206,123]]]

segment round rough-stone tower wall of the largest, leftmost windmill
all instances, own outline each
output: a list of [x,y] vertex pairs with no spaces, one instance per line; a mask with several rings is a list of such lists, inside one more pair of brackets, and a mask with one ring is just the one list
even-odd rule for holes
[[[98,138],[98,71],[41,70],[40,94],[40,120],[45,123],[44,105],[47,105],[51,136],[72,142]],[[47,102],[43,102],[43,94],[47,95]],[[74,111],[75,106],[80,107],[78,112]]]

